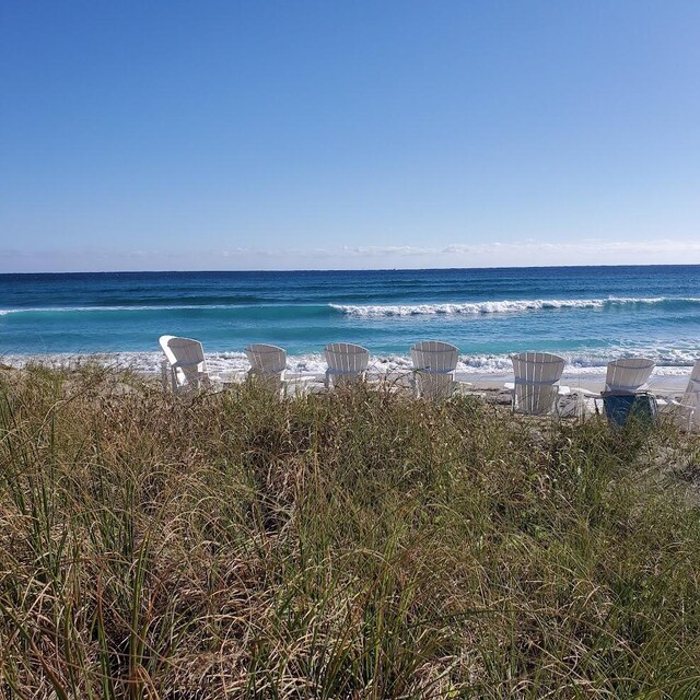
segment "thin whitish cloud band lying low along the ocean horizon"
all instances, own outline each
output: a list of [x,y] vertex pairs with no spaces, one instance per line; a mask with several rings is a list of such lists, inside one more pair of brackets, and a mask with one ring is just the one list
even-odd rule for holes
[[452,243],[441,247],[328,246],[315,248],[174,249],[107,248],[0,249],[0,271],[44,272],[85,270],[256,270],[380,269],[387,267],[518,267],[548,265],[700,264],[698,240],[582,240]]

